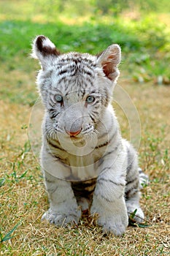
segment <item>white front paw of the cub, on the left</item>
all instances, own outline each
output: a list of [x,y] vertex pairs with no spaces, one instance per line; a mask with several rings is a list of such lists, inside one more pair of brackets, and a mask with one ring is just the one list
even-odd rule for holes
[[50,224],[54,224],[58,227],[66,227],[66,225],[72,226],[74,224],[78,224],[80,216],[81,212],[79,210],[75,211],[74,214],[60,214],[49,209],[45,214],[43,214],[42,221],[47,219]]

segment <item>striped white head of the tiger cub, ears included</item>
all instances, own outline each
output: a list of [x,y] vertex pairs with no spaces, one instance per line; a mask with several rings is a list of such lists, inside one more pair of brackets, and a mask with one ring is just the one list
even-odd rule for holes
[[119,75],[120,47],[111,45],[99,56],[61,54],[50,39],[39,36],[33,56],[42,65],[37,83],[50,135],[78,140],[95,132]]

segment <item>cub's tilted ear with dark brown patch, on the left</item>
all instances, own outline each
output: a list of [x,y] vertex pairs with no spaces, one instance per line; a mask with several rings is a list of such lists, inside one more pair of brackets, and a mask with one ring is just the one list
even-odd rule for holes
[[53,42],[51,42],[47,37],[38,36],[34,39],[31,56],[35,59],[39,59],[43,69],[50,66],[53,59],[59,55],[60,52],[55,48]]

